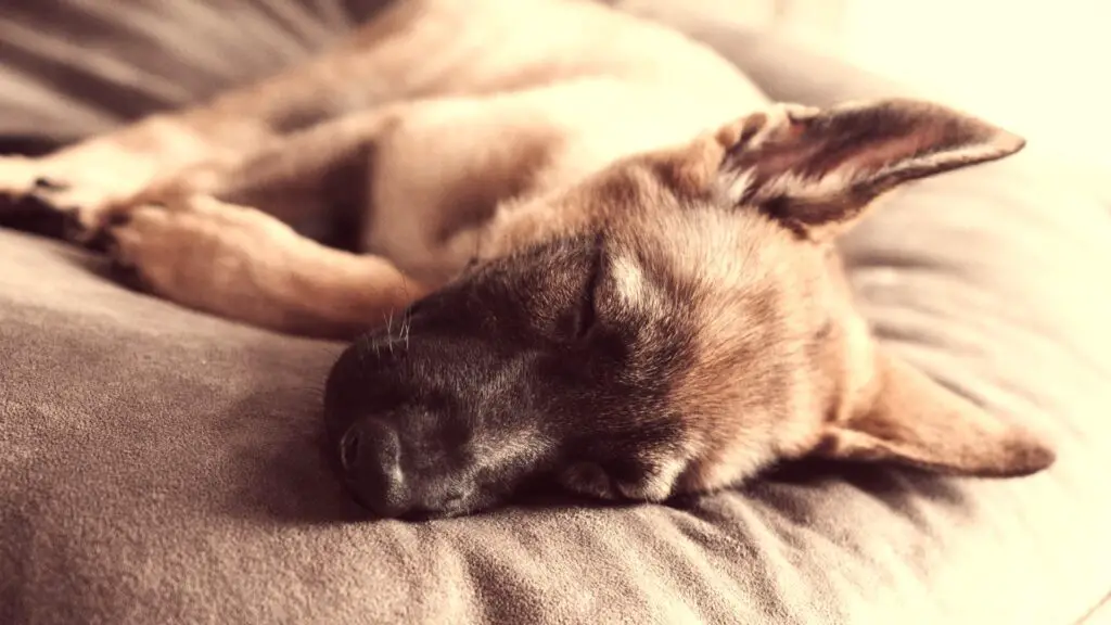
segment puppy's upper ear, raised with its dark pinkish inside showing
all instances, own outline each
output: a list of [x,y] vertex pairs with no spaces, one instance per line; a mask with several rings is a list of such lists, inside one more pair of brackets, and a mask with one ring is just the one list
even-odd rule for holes
[[824,240],[903,182],[1018,152],[1021,137],[918,100],[780,105],[718,133],[730,200]]

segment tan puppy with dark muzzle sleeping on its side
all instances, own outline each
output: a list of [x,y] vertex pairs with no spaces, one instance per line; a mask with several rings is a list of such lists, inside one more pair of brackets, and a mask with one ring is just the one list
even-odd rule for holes
[[[593,2],[402,0],[286,73],[4,159],[0,192],[151,294],[353,340],[326,390],[340,477],[418,518],[538,476],[662,502],[805,456],[1050,466],[877,344],[833,245],[1022,147],[930,102],[767,102]],[[337,224],[351,249],[304,236]]]

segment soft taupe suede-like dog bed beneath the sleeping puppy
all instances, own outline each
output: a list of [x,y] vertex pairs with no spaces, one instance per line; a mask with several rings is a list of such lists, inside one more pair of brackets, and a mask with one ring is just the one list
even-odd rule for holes
[[[373,9],[12,4],[0,131],[62,138],[274,71]],[[775,99],[914,95],[712,16],[672,19]],[[84,252],[0,230],[0,623],[1094,618],[1111,592],[1099,197],[1030,146],[919,183],[844,242],[877,334],[1050,436],[1049,472],[798,465],[684,507],[423,524],[360,519],[322,459],[321,383],[342,346],[131,292]]]

